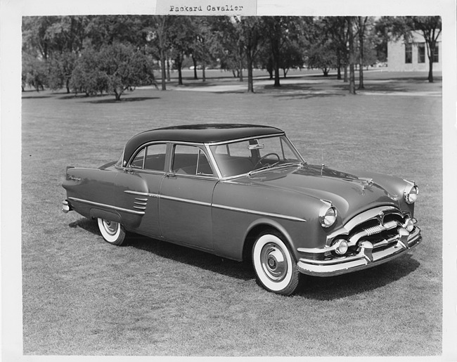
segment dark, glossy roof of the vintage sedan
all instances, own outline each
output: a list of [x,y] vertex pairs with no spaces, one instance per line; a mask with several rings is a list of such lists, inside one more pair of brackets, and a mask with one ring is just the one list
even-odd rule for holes
[[128,161],[135,150],[148,142],[219,143],[283,133],[283,130],[276,127],[257,124],[187,124],[151,129],[136,134],[127,141],[124,148],[124,161]]

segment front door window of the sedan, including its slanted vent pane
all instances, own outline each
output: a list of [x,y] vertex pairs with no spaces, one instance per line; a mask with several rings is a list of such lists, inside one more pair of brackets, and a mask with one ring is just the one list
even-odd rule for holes
[[213,174],[205,153],[196,146],[176,145],[172,162],[172,172],[176,174]]

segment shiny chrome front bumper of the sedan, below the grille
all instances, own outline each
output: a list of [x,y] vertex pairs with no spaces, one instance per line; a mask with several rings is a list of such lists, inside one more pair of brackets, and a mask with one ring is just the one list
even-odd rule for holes
[[369,241],[359,243],[357,254],[347,257],[335,257],[327,260],[300,258],[298,270],[309,276],[338,276],[361,269],[368,269],[390,261],[420,243],[420,228],[417,226],[409,233],[401,228],[396,237],[397,242],[390,247],[373,252],[373,244]]

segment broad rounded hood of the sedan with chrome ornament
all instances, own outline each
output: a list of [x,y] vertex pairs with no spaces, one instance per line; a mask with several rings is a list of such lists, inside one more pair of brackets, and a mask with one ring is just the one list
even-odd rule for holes
[[398,188],[401,179],[363,173],[363,176],[340,172],[328,167],[304,165],[295,169],[278,167],[247,176],[241,182],[281,188],[329,200],[343,219],[379,205],[399,206]]

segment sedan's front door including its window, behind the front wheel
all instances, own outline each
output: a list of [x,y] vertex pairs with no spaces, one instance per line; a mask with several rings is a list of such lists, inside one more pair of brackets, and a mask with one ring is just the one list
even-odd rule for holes
[[218,180],[205,150],[199,146],[175,145],[170,171],[160,187],[162,236],[213,250],[211,205],[212,191]]

